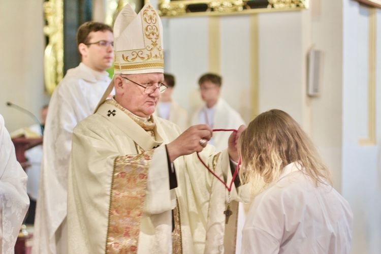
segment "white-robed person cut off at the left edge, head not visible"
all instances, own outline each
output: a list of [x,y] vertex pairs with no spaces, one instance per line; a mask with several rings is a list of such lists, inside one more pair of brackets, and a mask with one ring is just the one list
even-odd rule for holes
[[16,160],[15,146],[0,115],[0,253],[14,253],[29,207],[27,176]]

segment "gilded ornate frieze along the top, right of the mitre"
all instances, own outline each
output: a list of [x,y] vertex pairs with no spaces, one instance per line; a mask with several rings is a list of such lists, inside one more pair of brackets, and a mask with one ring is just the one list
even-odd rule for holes
[[308,8],[308,0],[159,0],[160,16],[236,15]]

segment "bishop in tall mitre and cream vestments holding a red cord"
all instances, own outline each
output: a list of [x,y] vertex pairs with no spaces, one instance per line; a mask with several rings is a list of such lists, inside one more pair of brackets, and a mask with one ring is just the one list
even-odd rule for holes
[[[244,186],[229,193],[196,152],[230,184],[244,126],[231,134],[229,149],[215,153],[208,125],[181,133],[152,115],[167,88],[162,30],[149,3],[139,14],[128,4],[115,20],[114,78],[96,113],[73,132],[69,253],[233,253],[229,201]],[[113,87],[115,97],[105,100]]]

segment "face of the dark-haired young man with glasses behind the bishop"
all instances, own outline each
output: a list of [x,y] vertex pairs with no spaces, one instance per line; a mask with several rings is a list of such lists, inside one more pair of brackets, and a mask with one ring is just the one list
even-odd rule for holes
[[[89,42],[94,43],[99,41],[114,42],[114,37],[109,30],[91,32],[89,34]],[[79,51],[82,55],[82,62],[94,71],[104,72],[109,69],[113,62],[114,48],[109,45],[81,43]]]

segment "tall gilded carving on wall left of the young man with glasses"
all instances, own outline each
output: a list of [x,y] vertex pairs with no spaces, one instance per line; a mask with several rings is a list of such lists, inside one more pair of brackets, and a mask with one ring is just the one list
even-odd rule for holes
[[52,94],[63,77],[63,0],[44,2],[48,45],[44,53],[45,88]]

